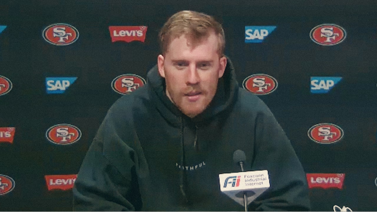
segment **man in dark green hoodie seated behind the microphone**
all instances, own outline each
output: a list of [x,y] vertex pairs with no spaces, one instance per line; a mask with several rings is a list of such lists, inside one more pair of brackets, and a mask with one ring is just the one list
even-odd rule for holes
[[236,211],[218,175],[267,169],[270,189],[249,210],[308,210],[305,173],[267,106],[239,89],[221,25],[193,11],[159,34],[147,84],[109,109],[75,182],[74,210]]

